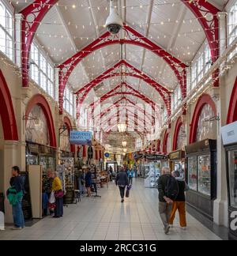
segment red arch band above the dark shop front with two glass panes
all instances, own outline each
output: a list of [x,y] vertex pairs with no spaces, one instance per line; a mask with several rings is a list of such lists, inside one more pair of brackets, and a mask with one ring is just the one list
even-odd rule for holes
[[193,119],[190,124],[190,144],[196,142],[198,120],[201,114],[201,110],[205,106],[205,104],[209,104],[216,115],[216,104],[214,103],[213,99],[211,98],[211,96],[209,96],[209,94],[203,94],[199,98],[198,103],[196,104]]

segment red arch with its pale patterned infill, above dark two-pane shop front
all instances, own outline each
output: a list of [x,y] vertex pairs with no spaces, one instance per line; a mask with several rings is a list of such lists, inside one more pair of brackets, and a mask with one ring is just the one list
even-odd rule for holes
[[190,124],[190,144],[207,138],[216,139],[216,104],[208,94],[198,100]]

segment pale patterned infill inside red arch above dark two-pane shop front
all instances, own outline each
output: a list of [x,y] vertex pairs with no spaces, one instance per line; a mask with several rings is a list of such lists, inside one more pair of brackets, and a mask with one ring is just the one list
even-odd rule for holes
[[198,120],[196,141],[202,141],[206,138],[215,139],[216,122],[210,121],[214,116],[213,108],[209,104],[205,104]]

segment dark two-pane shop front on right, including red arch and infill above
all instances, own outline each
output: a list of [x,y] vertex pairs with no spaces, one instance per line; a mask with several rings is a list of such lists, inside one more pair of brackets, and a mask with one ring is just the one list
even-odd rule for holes
[[185,147],[186,182],[190,186],[186,200],[210,220],[217,190],[216,120],[216,104],[211,96],[203,94],[190,124],[190,145]]

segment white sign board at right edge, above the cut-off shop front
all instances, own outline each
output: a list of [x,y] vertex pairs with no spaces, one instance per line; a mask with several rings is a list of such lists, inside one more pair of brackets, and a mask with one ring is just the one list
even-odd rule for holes
[[224,145],[237,143],[237,122],[221,127],[221,135]]

